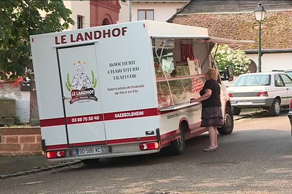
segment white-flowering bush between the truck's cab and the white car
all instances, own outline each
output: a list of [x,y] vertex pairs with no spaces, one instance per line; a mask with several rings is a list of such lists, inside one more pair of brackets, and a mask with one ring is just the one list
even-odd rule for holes
[[[214,56],[217,46],[212,50]],[[215,62],[220,70],[226,69],[228,65],[233,66],[235,75],[246,73],[251,61],[247,58],[244,51],[233,50],[227,45],[219,45],[215,56]]]

